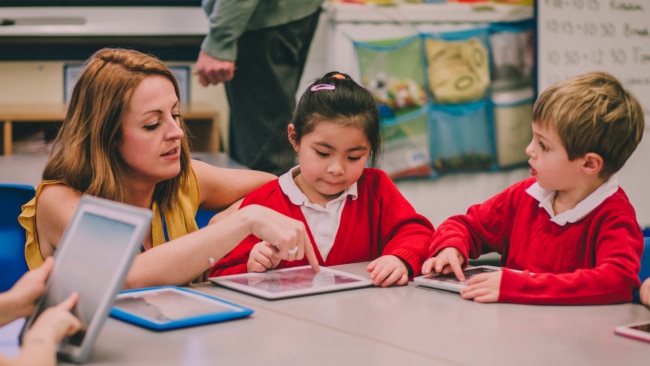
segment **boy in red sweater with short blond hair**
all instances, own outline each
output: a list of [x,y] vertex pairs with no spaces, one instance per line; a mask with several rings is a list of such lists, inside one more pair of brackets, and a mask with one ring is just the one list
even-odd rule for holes
[[643,110],[613,76],[589,72],[546,89],[526,148],[532,178],[508,187],[432,237],[422,272],[454,274],[486,252],[501,271],[461,291],[477,302],[629,302],[639,287],[643,234],[615,173],[641,141]]

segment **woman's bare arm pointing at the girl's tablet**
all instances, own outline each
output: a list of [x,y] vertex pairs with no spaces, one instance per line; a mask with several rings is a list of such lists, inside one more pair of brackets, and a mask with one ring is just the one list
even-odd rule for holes
[[[46,188],[36,203],[36,226],[44,257],[53,254],[81,198],[81,194],[64,185]],[[250,234],[270,243],[282,259],[307,256],[312,266],[318,268],[318,259],[302,222],[272,209],[251,205],[215,224],[136,256],[124,286],[187,284]],[[296,254],[289,254],[294,247],[298,247]]]

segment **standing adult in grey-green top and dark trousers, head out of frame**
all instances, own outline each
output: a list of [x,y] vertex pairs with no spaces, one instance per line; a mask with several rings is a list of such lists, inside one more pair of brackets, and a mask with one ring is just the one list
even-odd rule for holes
[[276,175],[295,165],[285,136],[324,0],[203,0],[203,86],[225,83],[230,156]]

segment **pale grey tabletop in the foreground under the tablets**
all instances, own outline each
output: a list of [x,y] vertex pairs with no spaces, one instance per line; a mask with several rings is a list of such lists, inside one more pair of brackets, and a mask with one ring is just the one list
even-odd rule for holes
[[[365,264],[337,266],[364,274]],[[108,319],[89,365],[648,365],[650,344],[614,334],[650,320],[637,304],[479,304],[416,287],[364,288],[267,301],[195,289],[250,318],[152,332]]]

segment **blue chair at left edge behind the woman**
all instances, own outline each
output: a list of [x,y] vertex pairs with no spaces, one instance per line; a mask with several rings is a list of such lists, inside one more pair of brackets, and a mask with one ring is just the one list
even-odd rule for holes
[[10,289],[28,271],[25,229],[18,224],[18,215],[34,194],[29,185],[0,183],[0,292]]

